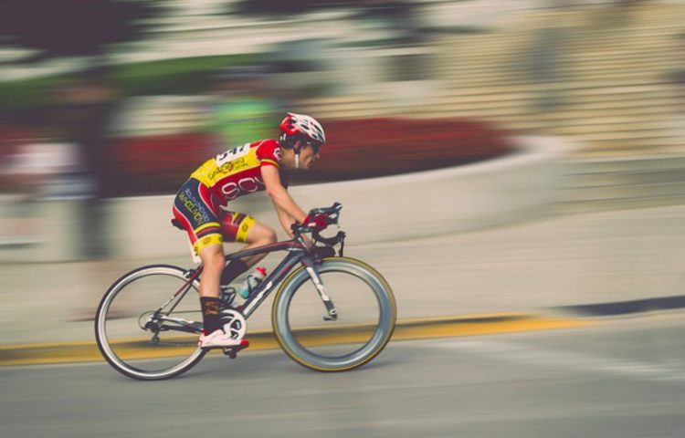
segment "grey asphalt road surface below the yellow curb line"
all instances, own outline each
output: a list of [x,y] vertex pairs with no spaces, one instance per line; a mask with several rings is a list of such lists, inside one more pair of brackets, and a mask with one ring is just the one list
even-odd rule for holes
[[0,368],[5,436],[666,438],[685,428],[682,314],[391,342],[344,373],[280,351],[209,357],[171,381],[104,363]]

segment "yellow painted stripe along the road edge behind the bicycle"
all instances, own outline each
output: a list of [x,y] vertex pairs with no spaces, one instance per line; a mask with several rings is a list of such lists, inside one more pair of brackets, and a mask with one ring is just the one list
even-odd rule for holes
[[[417,318],[397,322],[391,340],[429,339],[458,336],[491,335],[518,331],[579,328],[595,321],[587,319],[550,318],[530,314],[485,314],[451,318]],[[362,342],[369,338],[364,325],[340,328],[325,326],[306,328],[297,337],[306,346],[336,345]],[[247,351],[278,349],[279,345],[270,331],[248,334],[250,347]],[[190,354],[195,349],[195,337],[174,338],[175,344],[187,346],[160,346],[151,348],[148,339],[126,339],[112,348],[117,355],[127,359],[157,359]],[[217,350],[218,351],[218,350]],[[92,341],[55,342],[0,346],[0,366],[35,365],[100,361],[102,356]]]

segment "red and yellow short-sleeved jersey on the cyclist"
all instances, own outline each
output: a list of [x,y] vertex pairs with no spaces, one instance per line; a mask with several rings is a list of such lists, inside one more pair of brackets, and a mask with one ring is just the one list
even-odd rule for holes
[[203,183],[219,197],[231,201],[248,193],[265,190],[261,167],[279,168],[280,160],[277,141],[245,143],[207,160],[193,172],[191,178]]

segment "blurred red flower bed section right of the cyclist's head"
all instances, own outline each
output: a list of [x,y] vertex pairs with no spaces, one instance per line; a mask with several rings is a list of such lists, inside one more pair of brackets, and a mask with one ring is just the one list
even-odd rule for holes
[[360,119],[323,123],[329,141],[293,181],[344,181],[478,162],[511,151],[504,133],[471,120]]

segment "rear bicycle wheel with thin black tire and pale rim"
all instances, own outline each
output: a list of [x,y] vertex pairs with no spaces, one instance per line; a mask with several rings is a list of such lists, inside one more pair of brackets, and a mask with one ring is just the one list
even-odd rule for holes
[[134,379],[168,379],[205,356],[199,283],[177,266],[143,266],[121,276],[100,301],[95,338],[102,356]]

